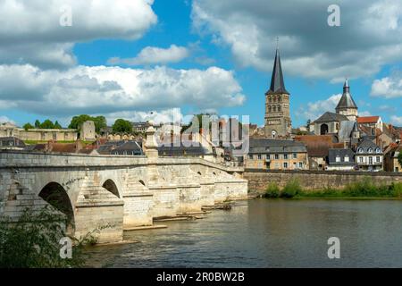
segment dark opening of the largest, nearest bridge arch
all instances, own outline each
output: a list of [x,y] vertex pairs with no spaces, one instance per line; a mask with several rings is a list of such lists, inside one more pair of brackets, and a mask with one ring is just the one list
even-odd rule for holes
[[71,205],[71,200],[61,184],[51,181],[46,184],[39,192],[39,197],[43,198],[50,206],[59,210],[67,217],[67,233],[74,231],[74,210]]

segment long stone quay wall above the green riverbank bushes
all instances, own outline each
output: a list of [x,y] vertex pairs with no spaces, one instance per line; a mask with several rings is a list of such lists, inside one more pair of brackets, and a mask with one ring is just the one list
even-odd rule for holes
[[264,192],[266,187],[274,182],[281,188],[296,178],[303,189],[314,190],[323,188],[341,189],[355,181],[367,177],[377,184],[390,184],[393,181],[402,182],[402,174],[398,172],[335,172],[335,171],[264,171],[246,170],[243,175],[248,181],[249,191]]

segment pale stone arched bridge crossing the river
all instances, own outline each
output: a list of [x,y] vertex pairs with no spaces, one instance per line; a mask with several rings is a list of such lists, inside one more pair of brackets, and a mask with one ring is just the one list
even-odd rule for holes
[[18,218],[28,206],[50,204],[69,218],[80,238],[102,229],[99,242],[122,239],[124,229],[153,218],[200,211],[227,199],[247,198],[240,168],[200,158],[87,156],[0,152],[0,216]]

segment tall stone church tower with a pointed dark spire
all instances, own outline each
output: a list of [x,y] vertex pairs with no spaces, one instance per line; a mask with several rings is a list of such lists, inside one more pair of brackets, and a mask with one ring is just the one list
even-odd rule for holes
[[265,137],[287,137],[291,132],[289,92],[285,88],[281,56],[276,49],[271,87],[265,93]]

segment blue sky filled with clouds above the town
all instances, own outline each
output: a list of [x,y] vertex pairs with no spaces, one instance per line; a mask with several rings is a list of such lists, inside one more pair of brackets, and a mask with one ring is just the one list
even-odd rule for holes
[[400,0],[0,0],[0,122],[263,125],[276,38],[294,127],[334,112],[346,78],[361,116],[402,126]]

